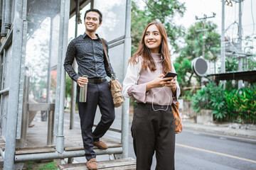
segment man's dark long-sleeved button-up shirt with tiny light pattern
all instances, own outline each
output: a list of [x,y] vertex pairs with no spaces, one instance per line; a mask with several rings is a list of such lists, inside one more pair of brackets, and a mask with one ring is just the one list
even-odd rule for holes
[[[88,78],[112,77],[110,72],[110,67],[112,69],[112,66],[110,65],[109,67],[107,64],[101,39],[98,35],[97,37],[97,39],[92,39],[85,33],[74,38],[69,43],[64,67],[73,81],[78,81],[78,78],[83,75],[87,75]],[[108,44],[106,40],[105,42],[108,52]],[[73,68],[74,59],[78,63],[78,74]],[[115,77],[113,69],[112,74]]]

